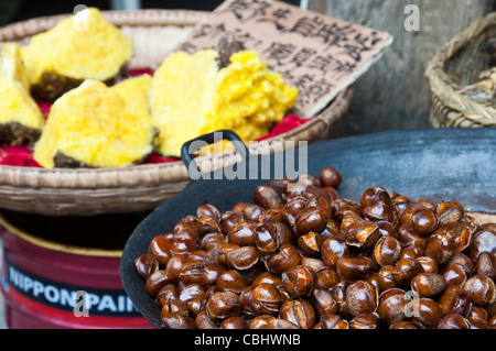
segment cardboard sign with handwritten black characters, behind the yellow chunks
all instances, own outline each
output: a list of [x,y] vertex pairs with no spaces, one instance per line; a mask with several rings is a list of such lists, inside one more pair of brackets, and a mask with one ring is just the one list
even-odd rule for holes
[[240,42],[299,89],[295,113],[311,118],[362,76],[392,43],[369,28],[271,0],[227,0],[175,51]]

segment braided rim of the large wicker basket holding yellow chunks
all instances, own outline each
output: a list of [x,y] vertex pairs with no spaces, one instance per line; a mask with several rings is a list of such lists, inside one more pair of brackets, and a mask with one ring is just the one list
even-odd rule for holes
[[[192,26],[204,20],[209,12],[192,10],[144,9],[134,11],[101,11],[111,23],[117,26]],[[56,14],[34,18],[25,21],[0,26],[0,42],[15,41],[32,36],[47,30],[62,19],[71,15]],[[265,140],[271,151],[282,151],[285,140],[299,140],[298,136],[308,130],[320,129],[324,123],[328,128],[335,121],[328,116],[341,120],[351,105],[353,85],[339,91],[337,96],[317,114],[309,121],[290,131]],[[332,125],[331,125],[332,127]],[[256,143],[258,144],[258,143]],[[267,144],[266,144],[267,145]],[[251,145],[250,145],[251,146]],[[250,152],[257,153],[260,147],[255,145]],[[231,155],[233,153],[230,153]],[[228,157],[229,153],[220,157]],[[161,164],[141,164],[117,168],[39,168],[26,166],[0,165],[0,186],[8,187],[14,193],[15,188],[57,189],[57,190],[87,190],[115,189],[126,187],[157,186],[164,183],[187,182],[190,176],[181,160]]]

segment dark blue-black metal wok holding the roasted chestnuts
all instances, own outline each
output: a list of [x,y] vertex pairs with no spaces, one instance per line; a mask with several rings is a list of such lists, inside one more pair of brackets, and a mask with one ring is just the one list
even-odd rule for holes
[[[227,136],[236,140],[233,134]],[[265,161],[270,162],[272,169],[284,166],[278,163],[280,154],[255,157],[242,153],[242,166]],[[185,160],[185,154],[183,161],[188,166],[191,157]],[[310,144],[308,172],[317,175],[327,165],[343,176],[341,197],[358,200],[367,188],[384,186],[413,199],[457,200],[466,209],[496,213],[496,129],[388,131]],[[252,201],[254,188],[268,182],[228,180],[222,178],[222,173],[216,175],[220,179],[194,180],[159,206],[136,228],[123,249],[120,274],[125,290],[157,328],[163,328],[160,307],[148,296],[143,279],[136,273],[134,259],[148,252],[153,237],[172,230],[184,216],[196,213],[200,205],[208,202],[220,211],[228,210],[238,202]]]

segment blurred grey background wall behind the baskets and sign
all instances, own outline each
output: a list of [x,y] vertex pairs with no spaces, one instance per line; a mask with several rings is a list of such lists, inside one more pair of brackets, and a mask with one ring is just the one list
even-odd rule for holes
[[[212,11],[222,0],[0,0],[0,25],[33,17],[71,13],[77,4],[101,10],[122,7]],[[348,116],[335,136],[391,129],[429,128],[425,63],[452,36],[488,12],[496,0],[289,0],[291,4],[327,13],[395,36],[395,43],[356,81]],[[419,9],[419,31],[407,31],[406,7]]]

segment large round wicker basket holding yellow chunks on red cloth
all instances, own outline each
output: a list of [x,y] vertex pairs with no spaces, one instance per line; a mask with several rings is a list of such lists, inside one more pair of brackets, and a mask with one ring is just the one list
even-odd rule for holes
[[[208,13],[140,10],[103,11],[103,14],[133,41],[134,57],[130,68],[154,68]],[[0,42],[23,45],[32,35],[51,29],[63,18],[39,18],[0,28]],[[269,139],[270,150],[282,151],[285,140],[316,142],[328,139],[346,114],[352,97],[352,87],[342,91],[319,116]],[[260,153],[260,150],[250,152]],[[204,169],[202,163],[198,166]],[[47,216],[147,211],[184,189],[188,182],[182,162],[98,169],[0,166],[0,208]]]

